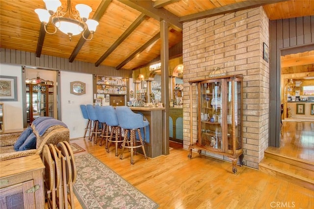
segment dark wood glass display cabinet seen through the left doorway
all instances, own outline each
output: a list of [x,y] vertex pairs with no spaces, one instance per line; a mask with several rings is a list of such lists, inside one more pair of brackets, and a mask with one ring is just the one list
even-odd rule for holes
[[26,115],[31,124],[40,116],[53,117],[53,85],[26,83]]

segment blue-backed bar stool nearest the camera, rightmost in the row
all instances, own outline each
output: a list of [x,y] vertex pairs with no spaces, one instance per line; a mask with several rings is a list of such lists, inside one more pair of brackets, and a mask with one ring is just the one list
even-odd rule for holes
[[[136,148],[141,147],[144,153],[145,159],[147,159],[145,152],[145,142],[142,139],[142,134],[140,129],[148,126],[148,121],[143,120],[143,116],[134,113],[128,106],[117,106],[116,113],[119,121],[119,126],[124,129],[124,138],[122,142],[122,149],[120,154],[120,159],[123,158],[124,148],[131,149],[131,165],[133,161],[133,153],[136,155]],[[136,132],[139,139],[136,139]],[[144,132],[145,133],[145,132]],[[130,137],[129,137],[130,134]],[[130,143],[126,145],[126,143]]]

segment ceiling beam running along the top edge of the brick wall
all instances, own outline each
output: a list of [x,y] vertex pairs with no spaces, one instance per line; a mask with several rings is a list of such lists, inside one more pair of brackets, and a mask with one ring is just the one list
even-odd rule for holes
[[226,14],[230,12],[235,12],[243,9],[249,9],[254,7],[259,7],[266,4],[278,3],[287,0],[246,0],[238,3],[229,4],[222,7],[217,7],[214,9],[209,9],[204,12],[199,12],[191,15],[185,15],[179,18],[180,23],[193,21],[202,18],[208,18],[216,15]]

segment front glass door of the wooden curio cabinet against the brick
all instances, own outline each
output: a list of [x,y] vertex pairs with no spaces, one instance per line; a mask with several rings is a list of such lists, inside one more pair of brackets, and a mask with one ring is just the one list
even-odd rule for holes
[[222,83],[220,81],[200,83],[201,136],[199,143],[208,149],[223,150],[222,140]]

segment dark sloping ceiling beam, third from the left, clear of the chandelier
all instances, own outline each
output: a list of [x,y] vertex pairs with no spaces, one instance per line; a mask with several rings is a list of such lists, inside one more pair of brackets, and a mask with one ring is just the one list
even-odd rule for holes
[[145,14],[141,14],[136,18],[136,20],[131,24],[131,26],[124,31],[124,33],[110,46],[110,48],[97,60],[95,63],[95,66],[98,67],[107,56],[111,52],[113,52],[134,30],[137,26],[139,26],[146,18],[147,16]]

